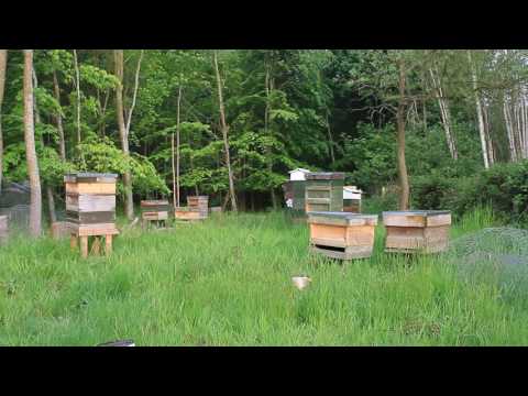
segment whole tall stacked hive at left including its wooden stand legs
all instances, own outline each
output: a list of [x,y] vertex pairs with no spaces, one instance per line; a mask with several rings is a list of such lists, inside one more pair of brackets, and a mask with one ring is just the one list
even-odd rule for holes
[[[116,182],[113,174],[77,173],[66,175],[66,218],[72,249],[80,244],[82,257],[112,253],[116,227]],[[91,243],[90,243],[91,240]],[[89,249],[90,248],[90,249]]]

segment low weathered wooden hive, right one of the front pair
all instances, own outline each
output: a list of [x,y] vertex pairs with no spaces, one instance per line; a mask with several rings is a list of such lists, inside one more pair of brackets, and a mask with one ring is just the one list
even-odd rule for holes
[[383,212],[385,252],[437,253],[448,248],[451,212],[408,210]]

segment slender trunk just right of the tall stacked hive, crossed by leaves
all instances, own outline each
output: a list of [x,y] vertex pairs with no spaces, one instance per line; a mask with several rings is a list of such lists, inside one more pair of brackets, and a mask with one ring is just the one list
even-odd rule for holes
[[[114,50],[114,66],[116,76],[119,80],[119,86],[116,89],[116,112],[118,116],[119,136],[121,139],[121,147],[125,157],[130,156],[129,152],[129,134],[127,131],[127,124],[124,122],[124,108],[123,108],[123,50]],[[134,201],[132,195],[132,176],[130,170],[125,170],[123,174],[124,186],[124,213],[129,220],[134,218]]]

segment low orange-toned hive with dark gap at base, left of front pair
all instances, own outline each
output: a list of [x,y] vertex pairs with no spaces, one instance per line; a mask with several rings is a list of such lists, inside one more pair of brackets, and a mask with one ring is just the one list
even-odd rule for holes
[[308,212],[310,250],[332,258],[353,260],[372,255],[375,215]]

